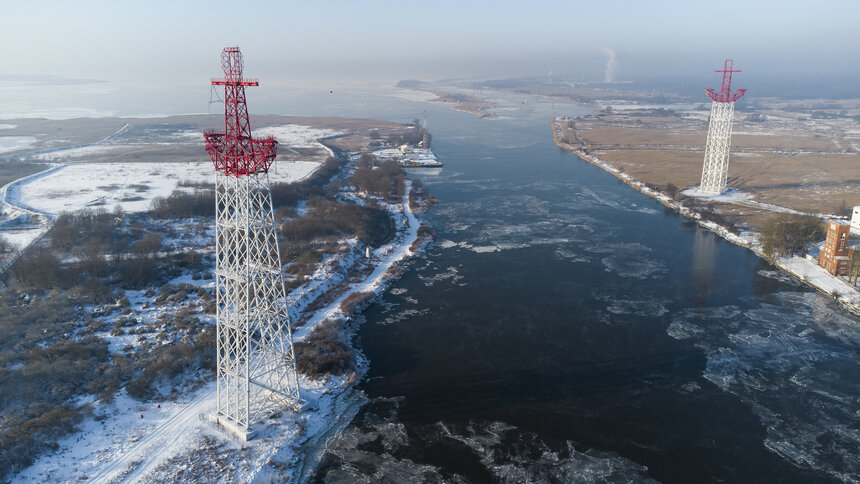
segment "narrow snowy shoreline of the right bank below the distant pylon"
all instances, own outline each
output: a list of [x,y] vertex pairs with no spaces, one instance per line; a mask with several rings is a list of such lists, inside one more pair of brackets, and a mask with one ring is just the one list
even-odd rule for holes
[[[799,282],[806,284],[807,286],[812,287],[813,289],[835,299],[849,312],[856,315],[860,315],[860,293],[858,293],[858,291],[851,287],[848,283],[831,276],[824,269],[818,267],[818,264],[812,264],[811,261],[809,261],[809,264],[804,264],[808,260],[805,257],[798,256],[780,257],[779,259],[773,261],[768,260],[764,252],[762,252],[761,247],[755,242],[754,239],[739,236],[730,232],[726,227],[722,225],[719,225],[710,220],[703,219],[700,213],[682,206],[680,203],[673,200],[669,195],[666,195],[665,193],[660,192],[658,190],[653,190],[646,186],[645,183],[633,178],[632,176],[624,173],[618,168],[611,166],[609,163],[606,163],[600,158],[588,154],[580,150],[576,146],[561,141],[559,139],[559,128],[561,126],[558,123],[557,117],[550,118],[550,124],[552,126],[553,141],[559,148],[570,151],[582,161],[594,165],[606,171],[607,173],[615,176],[617,179],[621,180],[634,190],[644,195],[647,195],[654,200],[657,200],[664,207],[674,210],[682,217],[694,220],[700,227],[715,232],[717,235],[719,235],[726,241],[752,251],[758,257],[768,261],[774,267],[791,275]],[[755,233],[751,234],[758,235]],[[809,267],[810,265],[812,265],[813,267]],[[816,269],[818,269],[818,271],[816,271]],[[810,278],[810,270],[826,274],[827,278],[832,280],[827,280],[827,278],[824,278],[823,274],[812,274],[813,277]]]

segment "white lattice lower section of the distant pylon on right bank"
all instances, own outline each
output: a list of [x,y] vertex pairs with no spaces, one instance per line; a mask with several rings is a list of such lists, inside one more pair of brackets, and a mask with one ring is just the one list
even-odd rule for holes
[[729,148],[732,143],[732,116],[734,102],[711,104],[711,124],[705,143],[705,163],[702,167],[702,184],[699,191],[719,195],[726,191],[729,173]]

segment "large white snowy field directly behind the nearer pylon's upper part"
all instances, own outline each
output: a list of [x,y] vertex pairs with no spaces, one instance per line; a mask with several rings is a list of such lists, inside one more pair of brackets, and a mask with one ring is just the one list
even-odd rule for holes
[[[281,161],[272,167],[269,179],[272,183],[294,182],[306,178],[319,166],[311,161]],[[149,210],[153,198],[182,189],[181,182],[214,185],[212,164],[69,164],[28,183],[10,186],[6,201],[50,214],[95,207],[112,210],[117,205],[127,212],[141,212]]]

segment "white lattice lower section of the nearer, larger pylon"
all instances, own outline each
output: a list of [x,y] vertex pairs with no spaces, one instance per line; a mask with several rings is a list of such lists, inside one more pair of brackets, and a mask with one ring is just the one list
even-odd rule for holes
[[246,437],[299,404],[299,386],[267,173],[216,174],[217,421]]

